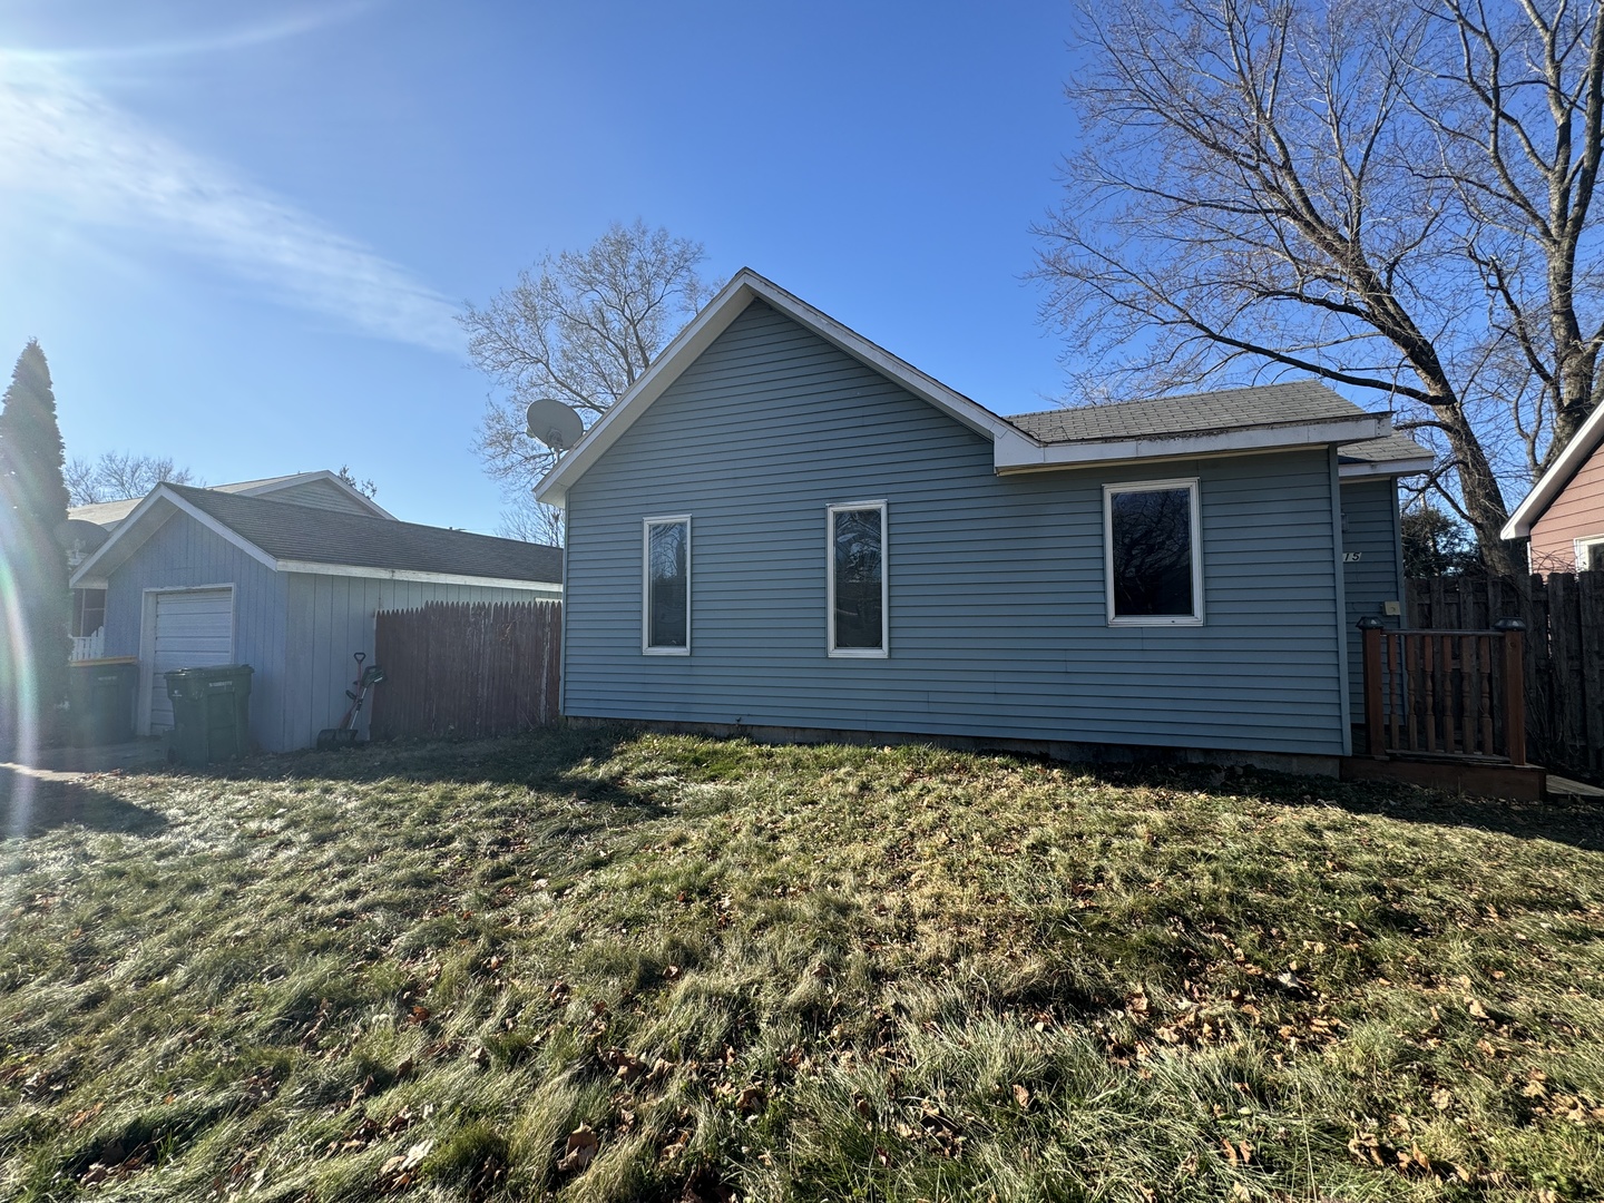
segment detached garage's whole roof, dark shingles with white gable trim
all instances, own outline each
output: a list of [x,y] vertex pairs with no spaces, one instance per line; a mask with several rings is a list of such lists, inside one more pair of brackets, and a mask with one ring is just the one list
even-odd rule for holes
[[[536,587],[537,592],[555,592],[563,579],[561,547],[188,484],[157,484],[112,537],[83,561],[72,577],[74,585],[104,581],[173,513],[189,515],[281,573],[497,584]],[[539,590],[542,584],[552,589]]]

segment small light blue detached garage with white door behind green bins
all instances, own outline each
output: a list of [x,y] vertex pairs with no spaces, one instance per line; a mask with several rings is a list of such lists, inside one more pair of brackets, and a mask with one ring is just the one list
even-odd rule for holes
[[252,743],[279,752],[340,722],[380,610],[555,602],[561,581],[560,547],[157,484],[72,585],[106,590],[103,654],[140,661],[141,735],[172,728],[167,670],[250,664]]

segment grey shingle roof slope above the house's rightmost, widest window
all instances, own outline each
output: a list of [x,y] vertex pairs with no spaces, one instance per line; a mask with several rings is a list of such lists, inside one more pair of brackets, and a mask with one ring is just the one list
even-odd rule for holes
[[1325,385],[1294,380],[1283,385],[1161,396],[1152,401],[1012,414],[1004,420],[1039,443],[1084,443],[1341,422],[1365,415],[1363,409],[1344,401]]

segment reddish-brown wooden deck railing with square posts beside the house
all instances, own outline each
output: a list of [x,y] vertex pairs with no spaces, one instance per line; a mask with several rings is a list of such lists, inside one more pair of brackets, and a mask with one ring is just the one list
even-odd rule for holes
[[1525,624],[1492,630],[1386,630],[1365,637],[1368,752],[1497,757],[1525,764]]

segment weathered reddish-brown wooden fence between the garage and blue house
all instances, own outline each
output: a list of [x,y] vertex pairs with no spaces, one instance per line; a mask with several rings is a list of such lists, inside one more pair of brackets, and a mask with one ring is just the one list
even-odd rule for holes
[[380,610],[372,736],[475,739],[555,722],[561,640],[561,602]]

